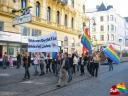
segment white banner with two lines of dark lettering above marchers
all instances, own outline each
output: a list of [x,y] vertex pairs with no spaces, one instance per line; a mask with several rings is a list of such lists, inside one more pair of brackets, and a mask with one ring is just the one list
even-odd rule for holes
[[30,37],[28,52],[58,52],[57,34],[52,32],[45,36]]

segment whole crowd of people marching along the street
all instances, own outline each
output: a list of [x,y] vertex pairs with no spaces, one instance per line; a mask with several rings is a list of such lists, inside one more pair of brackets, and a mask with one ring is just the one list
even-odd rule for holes
[[[98,76],[99,63],[101,61],[101,52],[95,51],[91,55],[88,53],[78,55],[77,52],[73,54],[68,53],[56,53],[50,56],[50,54],[45,53],[33,53],[31,56],[28,52],[17,53],[16,68],[20,68],[23,65],[25,69],[25,74],[23,80],[30,79],[29,68],[31,65],[34,67],[34,75],[42,76],[45,74],[53,73],[58,77],[57,87],[66,85],[68,82],[73,80],[73,75],[79,73],[81,76],[85,74],[85,70],[92,77]],[[113,70],[112,60],[108,59],[109,70]],[[8,58],[5,52],[3,56],[3,68],[5,69],[9,62],[10,67],[14,67],[12,57]],[[85,67],[86,66],[86,67]]]

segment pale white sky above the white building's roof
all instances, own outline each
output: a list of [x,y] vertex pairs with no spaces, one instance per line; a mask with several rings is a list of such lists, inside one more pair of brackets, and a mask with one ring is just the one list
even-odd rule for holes
[[96,8],[96,5],[100,5],[102,2],[105,5],[113,5],[113,8],[121,16],[128,16],[128,0],[86,0],[86,8]]

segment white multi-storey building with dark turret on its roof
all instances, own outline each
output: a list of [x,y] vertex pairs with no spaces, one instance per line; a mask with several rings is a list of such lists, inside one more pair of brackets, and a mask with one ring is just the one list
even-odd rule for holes
[[88,10],[87,15],[92,44],[97,50],[108,44],[112,44],[118,51],[127,49],[128,23],[116,13],[112,5],[105,6],[102,3],[96,9]]

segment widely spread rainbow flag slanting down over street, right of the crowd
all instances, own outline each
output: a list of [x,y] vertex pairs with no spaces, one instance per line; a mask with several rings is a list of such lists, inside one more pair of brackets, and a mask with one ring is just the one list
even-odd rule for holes
[[112,45],[109,45],[109,47],[105,48],[105,50],[103,50],[103,52],[105,53],[105,55],[107,55],[115,63],[117,63],[117,64],[120,63],[120,58],[117,55],[117,53],[114,50],[114,48],[112,47]]

